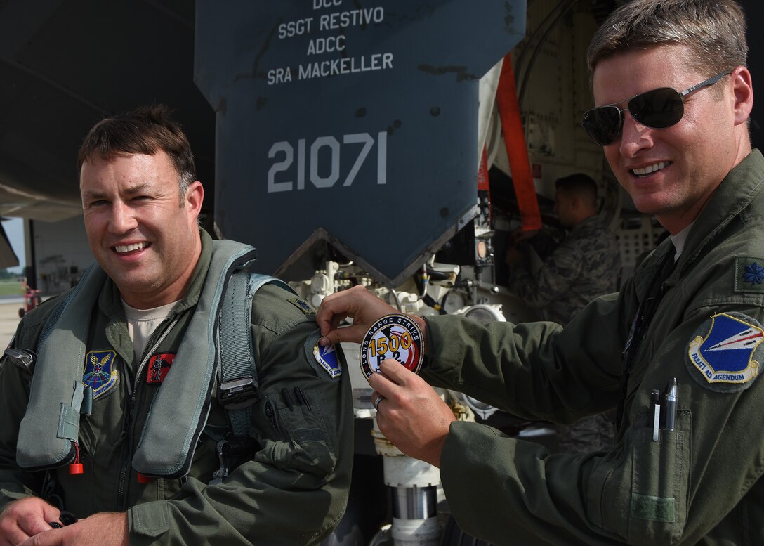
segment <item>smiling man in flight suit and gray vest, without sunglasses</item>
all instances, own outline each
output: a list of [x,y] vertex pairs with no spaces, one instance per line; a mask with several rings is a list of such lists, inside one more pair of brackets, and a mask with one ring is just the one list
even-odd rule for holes
[[202,184],[163,106],[99,122],[78,163],[99,267],[3,356],[0,544],[320,541],[353,442],[315,311],[276,279],[250,291],[254,249],[199,229]]

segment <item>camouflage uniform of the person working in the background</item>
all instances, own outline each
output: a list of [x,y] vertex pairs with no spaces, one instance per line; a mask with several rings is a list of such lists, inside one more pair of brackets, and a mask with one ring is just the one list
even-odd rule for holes
[[[546,320],[565,325],[594,298],[617,291],[620,265],[615,237],[592,216],[571,229],[536,275],[522,265],[513,267],[509,288],[530,307],[543,307]],[[606,415],[557,427],[560,450],[568,453],[607,450],[613,434]]]

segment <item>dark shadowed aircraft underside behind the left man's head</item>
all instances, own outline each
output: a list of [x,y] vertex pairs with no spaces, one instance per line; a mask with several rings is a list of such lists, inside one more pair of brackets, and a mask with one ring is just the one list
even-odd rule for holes
[[212,193],[215,119],[193,82],[194,14],[194,0],[0,0],[0,215],[82,215],[75,165],[89,128],[152,102],[176,109]]

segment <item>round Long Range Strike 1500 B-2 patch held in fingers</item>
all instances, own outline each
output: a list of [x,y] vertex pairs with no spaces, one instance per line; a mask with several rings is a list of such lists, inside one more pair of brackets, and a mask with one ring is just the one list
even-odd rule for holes
[[406,315],[386,315],[371,325],[361,343],[361,371],[378,372],[384,359],[394,359],[414,373],[422,367],[422,330]]

